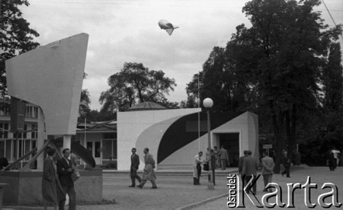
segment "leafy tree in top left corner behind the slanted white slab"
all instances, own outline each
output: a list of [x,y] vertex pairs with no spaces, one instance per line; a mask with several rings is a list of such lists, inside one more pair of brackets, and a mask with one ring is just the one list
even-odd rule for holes
[[0,1],[0,93],[7,93],[5,60],[39,46],[34,37],[39,34],[23,19],[20,5],[29,5],[26,0]]

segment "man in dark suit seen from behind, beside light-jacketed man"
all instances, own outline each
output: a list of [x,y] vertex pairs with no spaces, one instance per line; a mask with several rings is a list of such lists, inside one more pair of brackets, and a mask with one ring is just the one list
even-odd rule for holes
[[243,159],[243,170],[242,174],[245,180],[245,185],[250,181],[250,179],[253,178],[252,182],[250,185],[246,188],[246,193],[249,194],[251,188],[252,188],[252,194],[256,194],[257,187],[256,184],[252,185],[252,183],[255,181],[257,178],[257,170],[259,169],[259,161],[255,159],[255,157],[252,156],[252,152],[248,150],[248,156],[246,156]]

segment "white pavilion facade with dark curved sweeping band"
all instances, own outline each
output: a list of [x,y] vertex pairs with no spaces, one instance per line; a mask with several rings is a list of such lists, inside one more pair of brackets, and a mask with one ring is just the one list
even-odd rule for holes
[[[118,170],[130,169],[130,150],[150,148],[157,168],[191,167],[208,146],[206,113],[200,108],[138,110],[117,114]],[[199,118],[200,117],[200,120]],[[211,147],[225,145],[237,165],[244,150],[259,156],[258,117],[254,113],[211,113]],[[235,165],[234,164],[234,165]]]

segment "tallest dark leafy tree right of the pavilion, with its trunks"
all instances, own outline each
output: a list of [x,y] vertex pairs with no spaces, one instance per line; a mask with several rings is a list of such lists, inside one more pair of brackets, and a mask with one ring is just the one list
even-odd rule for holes
[[[252,0],[243,12],[252,27],[237,26],[230,43],[237,68],[246,69],[258,87],[259,106],[272,121],[277,154],[288,145],[292,150],[296,142],[299,116],[305,110],[316,109],[320,87],[320,71],[332,40],[337,40],[341,27],[328,29],[314,7],[319,0]],[[240,47],[244,50],[241,50]],[[254,82],[254,81],[252,81]],[[284,136],[287,141],[284,142]],[[276,161],[280,163],[280,159]],[[276,164],[279,172],[279,164]]]

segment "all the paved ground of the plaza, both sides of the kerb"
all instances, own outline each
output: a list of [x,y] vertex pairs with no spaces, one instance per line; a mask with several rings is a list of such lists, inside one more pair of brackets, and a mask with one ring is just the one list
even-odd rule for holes
[[[226,172],[228,174],[228,172]],[[219,174],[219,173],[218,173]],[[186,175],[186,176],[185,176]],[[279,183],[283,189],[283,201],[287,202],[287,185],[286,183],[304,184],[307,176],[311,176],[311,183],[317,183],[318,189],[311,190],[311,201],[316,202],[318,196],[325,191],[320,189],[323,183],[331,182],[337,185],[339,194],[338,200],[343,203],[343,167],[338,168],[335,172],[330,172],[328,167],[293,167],[292,178],[285,178],[279,174],[274,175],[273,181]],[[104,191],[103,197],[107,200],[115,199],[117,204],[114,205],[78,205],[78,209],[176,209],[187,205],[201,202],[208,198],[227,194],[226,175],[220,174],[216,177],[215,190],[207,189],[206,173],[200,178],[202,185],[193,185],[193,177],[190,173],[176,174],[168,176],[167,174],[158,174],[156,183],[158,189],[150,189],[151,183],[147,183],[143,189],[138,187],[131,188],[128,174],[104,174]],[[263,180],[258,181],[257,198],[263,196]],[[297,189],[294,194],[296,209],[308,209],[304,205],[304,191]],[[228,209],[226,207],[226,196],[217,200],[198,205],[194,209]],[[246,201],[246,209],[257,209]],[[276,208],[277,209],[277,208]],[[279,208],[280,209],[280,208]],[[317,207],[316,209],[322,209]]]

